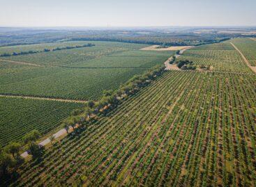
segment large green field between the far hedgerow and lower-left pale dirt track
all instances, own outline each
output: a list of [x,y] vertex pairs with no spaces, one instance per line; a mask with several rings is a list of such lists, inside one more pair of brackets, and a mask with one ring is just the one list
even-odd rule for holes
[[[103,90],[119,88],[121,83],[125,83],[135,74],[162,64],[174,53],[139,50],[147,46],[145,44],[92,43],[96,46],[0,58],[17,62],[0,62],[0,93],[98,99]],[[42,47],[42,44],[37,45]],[[41,66],[18,64],[19,62]]]

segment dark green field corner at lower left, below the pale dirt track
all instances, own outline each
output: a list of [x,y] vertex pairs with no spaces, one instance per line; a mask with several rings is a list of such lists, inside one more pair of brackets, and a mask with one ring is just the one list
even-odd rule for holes
[[47,133],[59,125],[70,111],[84,104],[36,99],[0,97],[0,144],[19,141],[25,133],[37,129]]

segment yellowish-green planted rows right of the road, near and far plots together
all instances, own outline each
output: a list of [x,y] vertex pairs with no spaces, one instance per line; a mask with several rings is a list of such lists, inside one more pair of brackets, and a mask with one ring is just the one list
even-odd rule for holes
[[256,186],[256,75],[226,43],[188,57],[215,71],[165,72],[12,186]]

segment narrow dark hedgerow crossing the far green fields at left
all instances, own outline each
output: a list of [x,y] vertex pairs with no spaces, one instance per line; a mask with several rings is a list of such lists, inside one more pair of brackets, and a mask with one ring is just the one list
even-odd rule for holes
[[7,56],[18,56],[18,55],[25,55],[25,54],[38,54],[43,52],[49,52],[49,51],[59,51],[63,49],[75,49],[75,48],[81,48],[81,47],[93,47],[95,44],[83,44],[83,45],[75,45],[75,46],[67,46],[67,47],[56,47],[54,49],[43,49],[43,51],[20,51],[20,52],[13,52],[12,54],[4,53],[1,54],[0,57],[7,57]]

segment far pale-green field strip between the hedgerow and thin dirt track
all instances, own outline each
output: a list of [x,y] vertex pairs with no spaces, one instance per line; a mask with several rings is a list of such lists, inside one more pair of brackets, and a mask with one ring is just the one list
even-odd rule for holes
[[[89,42],[91,41],[85,42],[85,44]],[[51,66],[149,67],[152,62],[156,64],[159,60],[165,60],[167,57],[172,55],[172,51],[139,51],[138,49],[148,46],[145,44],[123,44],[119,42],[91,43],[96,46],[2,57],[0,60],[13,60],[17,62]],[[72,44],[74,43],[72,42]],[[75,44],[80,44],[80,42]],[[45,46],[47,46],[47,44],[45,44]],[[63,46],[66,45],[63,44]],[[127,55],[130,55],[130,58],[126,60],[128,57]],[[125,58],[124,60],[126,61],[123,64],[119,64],[123,58]],[[149,65],[146,65],[146,62],[149,63]]]

